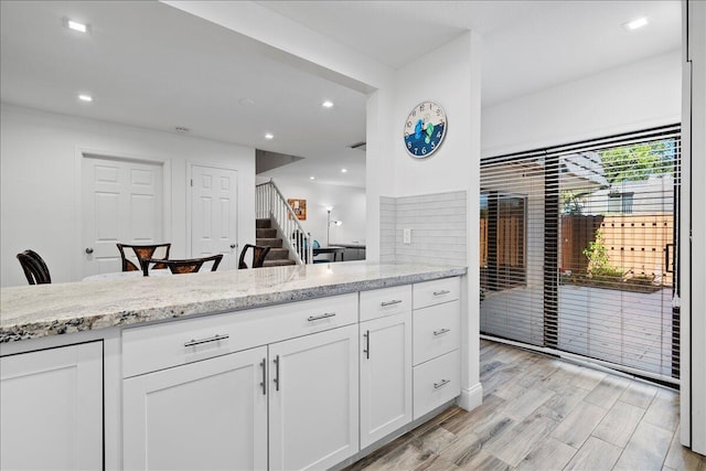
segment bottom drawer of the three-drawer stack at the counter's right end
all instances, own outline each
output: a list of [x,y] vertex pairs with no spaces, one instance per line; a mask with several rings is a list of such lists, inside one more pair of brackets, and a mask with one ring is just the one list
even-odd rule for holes
[[414,367],[414,420],[461,394],[460,351]]

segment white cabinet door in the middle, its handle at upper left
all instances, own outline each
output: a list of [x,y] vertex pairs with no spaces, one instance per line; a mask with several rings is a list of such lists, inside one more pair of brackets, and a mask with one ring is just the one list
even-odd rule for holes
[[359,451],[357,325],[269,345],[269,468],[327,469]]

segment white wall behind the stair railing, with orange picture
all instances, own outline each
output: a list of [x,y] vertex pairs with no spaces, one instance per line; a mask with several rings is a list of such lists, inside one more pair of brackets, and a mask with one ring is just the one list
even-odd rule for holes
[[340,226],[331,224],[331,244],[365,244],[365,189],[287,179],[277,179],[275,184],[285,199],[307,200],[307,220],[300,223],[322,246],[327,244],[327,207],[333,207],[331,221],[343,223]]

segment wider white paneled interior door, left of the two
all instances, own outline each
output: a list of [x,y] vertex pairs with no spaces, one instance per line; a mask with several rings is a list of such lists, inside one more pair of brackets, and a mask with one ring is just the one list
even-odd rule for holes
[[120,271],[122,244],[163,240],[163,167],[84,156],[83,276]]

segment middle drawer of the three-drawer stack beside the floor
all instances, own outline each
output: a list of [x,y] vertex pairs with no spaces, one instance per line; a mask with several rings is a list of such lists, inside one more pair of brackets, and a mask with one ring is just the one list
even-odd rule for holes
[[416,309],[414,323],[414,364],[418,365],[460,346],[460,301]]

